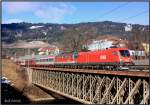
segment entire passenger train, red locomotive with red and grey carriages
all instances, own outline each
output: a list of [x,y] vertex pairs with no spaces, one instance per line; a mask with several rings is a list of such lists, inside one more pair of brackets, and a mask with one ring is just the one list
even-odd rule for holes
[[134,65],[128,48],[107,48],[103,50],[63,53],[56,56],[35,55],[16,60],[16,64],[31,67],[98,67],[107,69],[128,69]]

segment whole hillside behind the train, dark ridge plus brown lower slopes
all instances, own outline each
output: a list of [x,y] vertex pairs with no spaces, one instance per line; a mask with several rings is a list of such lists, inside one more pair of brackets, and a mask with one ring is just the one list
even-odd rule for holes
[[[149,26],[111,21],[78,24],[2,24],[2,55],[22,56],[40,47],[57,46],[63,51],[87,51],[83,45],[107,39],[132,50],[143,50],[149,43]],[[132,26],[132,27],[130,27]],[[131,31],[132,29],[132,31]],[[121,40],[120,40],[121,39]]]

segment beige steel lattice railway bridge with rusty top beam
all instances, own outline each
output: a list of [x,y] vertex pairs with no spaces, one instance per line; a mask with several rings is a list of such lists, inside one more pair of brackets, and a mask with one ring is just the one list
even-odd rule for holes
[[32,83],[85,104],[150,104],[149,71],[31,67]]

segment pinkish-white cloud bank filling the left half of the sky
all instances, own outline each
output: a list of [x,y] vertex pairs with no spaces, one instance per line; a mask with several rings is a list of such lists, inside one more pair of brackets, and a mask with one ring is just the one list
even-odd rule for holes
[[61,2],[4,2],[2,8],[11,16],[30,13],[32,17],[48,22],[59,22],[76,11],[70,3]]

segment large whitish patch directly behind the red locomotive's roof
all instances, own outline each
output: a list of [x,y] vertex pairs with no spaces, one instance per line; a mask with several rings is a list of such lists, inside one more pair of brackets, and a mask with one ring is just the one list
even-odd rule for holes
[[110,48],[113,46],[112,43],[113,43],[112,41],[107,40],[93,41],[90,45],[88,45],[88,50],[94,51]]

